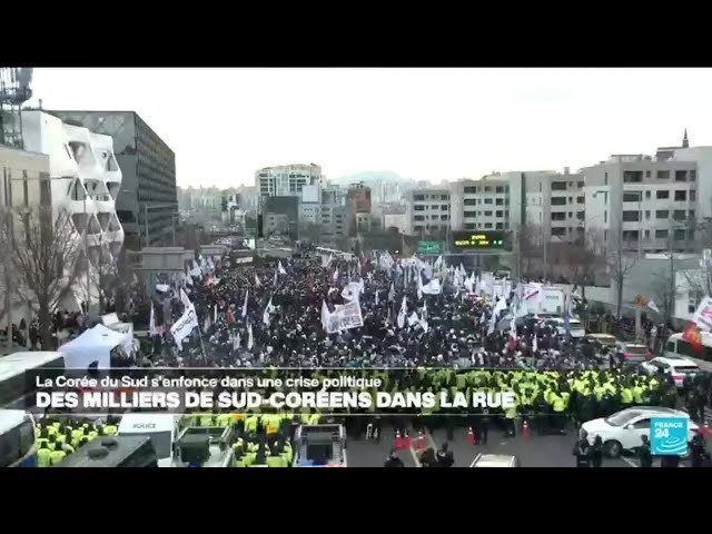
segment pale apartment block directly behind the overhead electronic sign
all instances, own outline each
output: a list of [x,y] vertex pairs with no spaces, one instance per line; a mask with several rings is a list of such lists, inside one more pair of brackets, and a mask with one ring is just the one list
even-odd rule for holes
[[510,182],[498,174],[451,185],[451,227],[456,230],[507,230]]

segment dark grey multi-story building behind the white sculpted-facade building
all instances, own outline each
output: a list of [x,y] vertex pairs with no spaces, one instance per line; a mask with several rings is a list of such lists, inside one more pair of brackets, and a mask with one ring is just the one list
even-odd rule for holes
[[127,246],[166,245],[178,211],[176,155],[135,111],[50,111],[66,122],[110,136],[123,174],[116,209]]

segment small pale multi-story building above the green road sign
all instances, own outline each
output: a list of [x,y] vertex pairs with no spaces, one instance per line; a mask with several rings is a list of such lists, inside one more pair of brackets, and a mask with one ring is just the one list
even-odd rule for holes
[[438,236],[447,230],[452,192],[448,189],[412,189],[406,202],[405,233]]

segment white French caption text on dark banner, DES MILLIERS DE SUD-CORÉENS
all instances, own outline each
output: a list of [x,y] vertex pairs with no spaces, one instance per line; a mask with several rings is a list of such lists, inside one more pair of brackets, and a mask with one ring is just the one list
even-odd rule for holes
[[[517,400],[508,387],[486,386],[482,370],[474,376],[443,369],[140,368],[107,373],[90,376],[77,370],[28,372],[28,390],[34,392],[29,403],[37,408],[76,414],[273,409],[338,415],[422,411],[463,415],[484,407],[507,409]],[[506,374],[488,374],[496,373]],[[464,377],[458,378],[458,374]]]

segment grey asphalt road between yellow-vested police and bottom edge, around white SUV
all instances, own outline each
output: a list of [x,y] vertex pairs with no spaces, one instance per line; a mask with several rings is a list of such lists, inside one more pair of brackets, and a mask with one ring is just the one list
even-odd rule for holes
[[[514,438],[504,437],[500,431],[490,432],[486,445],[468,445],[467,435],[464,429],[455,432],[455,439],[449,442],[449,448],[455,456],[455,467],[468,467],[479,453],[506,454],[517,456],[522,467],[574,467],[573,445],[575,441],[574,431],[570,431],[565,436],[535,436],[528,438],[516,436]],[[435,431],[434,434],[425,436],[427,446],[438,449],[445,443],[445,432]],[[416,467],[417,455],[415,443],[409,449],[398,452],[406,467]],[[388,453],[393,448],[393,437],[384,436],[380,443],[367,442],[365,439],[348,441],[348,466],[349,467],[383,467]],[[681,467],[689,464],[683,462]],[[620,458],[604,458],[603,467],[639,467],[637,459],[630,456]]]

